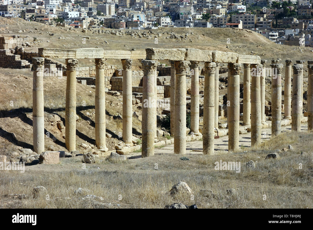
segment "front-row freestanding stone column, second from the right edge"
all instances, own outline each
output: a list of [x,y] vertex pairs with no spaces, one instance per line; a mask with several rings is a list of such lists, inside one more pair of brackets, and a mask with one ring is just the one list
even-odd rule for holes
[[292,110],[291,110],[291,130],[300,132],[301,130],[301,87],[302,87],[302,70],[303,64],[293,64],[293,80],[292,80]]

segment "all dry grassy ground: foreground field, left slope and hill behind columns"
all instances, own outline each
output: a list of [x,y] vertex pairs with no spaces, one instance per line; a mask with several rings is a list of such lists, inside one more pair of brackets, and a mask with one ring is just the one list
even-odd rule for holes
[[[32,47],[38,48],[103,48],[105,50],[143,50],[157,48],[197,48],[259,55],[261,59],[312,60],[312,48],[283,46],[269,41],[262,35],[244,29],[232,28],[159,28],[157,43],[147,38],[131,35],[116,36],[98,33],[98,29],[83,33],[82,29],[51,27],[20,18],[0,18],[0,32],[35,38]],[[18,33],[19,30],[25,32]],[[100,29],[111,30],[111,29]],[[116,30],[117,31],[117,30]],[[188,33],[188,39],[169,39],[167,33]],[[53,33],[53,36],[49,35]],[[88,37],[83,43],[83,38]],[[229,38],[229,39],[228,39]],[[64,59],[57,61],[65,63]],[[107,63],[121,68],[121,61],[108,59]],[[168,64],[165,62],[165,64]],[[91,66],[90,59],[80,59],[80,66]],[[133,70],[141,70],[134,60]],[[283,70],[282,77],[285,71]],[[227,76],[227,73],[222,74]],[[241,76],[242,79],[242,76]],[[25,69],[0,68],[0,154],[17,160],[21,148],[33,148],[32,128],[33,73]],[[49,120],[58,115],[65,121],[66,77],[44,77],[45,149],[65,151],[64,129]],[[304,65],[304,90],[307,89],[307,67]],[[76,149],[84,153],[81,143],[95,144],[95,89],[76,84],[77,115]],[[220,90],[224,95],[227,89]],[[122,115],[121,97],[106,96],[106,138],[109,150],[121,142],[122,122],[112,116]],[[266,86],[266,100],[270,100],[270,85]],[[13,102],[13,104],[12,104]],[[13,106],[12,106],[13,105]],[[306,105],[303,106],[306,109]],[[133,111],[138,107],[133,105]],[[303,124],[304,126],[307,123]],[[133,117],[133,134],[140,140],[141,121]],[[162,137],[166,139],[165,137]],[[161,138],[159,138],[161,139]],[[288,146],[293,149],[288,149]],[[52,147],[51,147],[52,146]],[[275,159],[265,157],[287,148]],[[60,158],[58,165],[28,165],[25,172],[0,171],[1,208],[164,208],[168,204],[197,204],[198,208],[313,208],[313,133],[285,132],[263,140],[254,148],[242,147],[236,152],[217,155],[157,154],[148,158],[126,161],[97,159],[95,164],[84,164],[83,156]],[[127,155],[126,155],[127,158]],[[216,171],[216,161],[240,161],[241,172]],[[246,168],[253,160],[255,169]],[[157,165],[156,165],[157,164]],[[156,167],[157,166],[157,167]],[[301,166],[301,167],[300,167]],[[172,196],[171,187],[184,181],[191,194]],[[46,196],[33,198],[33,187],[44,186]],[[81,188],[79,190],[79,188]],[[230,188],[233,190],[229,191]],[[78,191],[77,191],[78,190]],[[203,190],[206,190],[203,192]],[[211,191],[209,191],[211,190]],[[228,191],[227,191],[228,190]],[[94,196],[87,196],[94,195]],[[265,198],[264,198],[265,195]]]

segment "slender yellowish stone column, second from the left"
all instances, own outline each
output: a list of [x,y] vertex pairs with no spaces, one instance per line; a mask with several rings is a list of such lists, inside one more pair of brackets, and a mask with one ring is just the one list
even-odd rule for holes
[[76,148],[76,67],[77,59],[66,59],[65,146]]

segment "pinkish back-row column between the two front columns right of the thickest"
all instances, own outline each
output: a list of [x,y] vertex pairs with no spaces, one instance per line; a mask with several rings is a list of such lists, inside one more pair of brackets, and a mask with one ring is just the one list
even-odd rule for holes
[[193,135],[199,132],[199,63],[190,61],[191,68],[191,106],[190,106],[190,131]]

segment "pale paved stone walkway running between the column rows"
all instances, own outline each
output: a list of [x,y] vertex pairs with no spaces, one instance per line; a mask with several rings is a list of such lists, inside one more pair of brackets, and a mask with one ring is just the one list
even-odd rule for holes
[[[301,123],[301,131],[307,131],[308,124]],[[281,126],[282,132],[290,132],[291,125]],[[271,137],[271,128],[262,129],[262,141]],[[239,147],[250,147],[251,146],[251,133],[239,135]],[[214,139],[214,150],[215,151],[228,151],[228,135],[222,136],[218,139]],[[155,148],[154,154],[174,154],[174,144],[167,145],[163,148]],[[190,141],[186,143],[186,154],[203,154],[202,141]],[[141,152],[131,152],[126,155],[129,159],[140,158]]]

